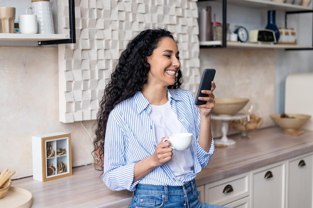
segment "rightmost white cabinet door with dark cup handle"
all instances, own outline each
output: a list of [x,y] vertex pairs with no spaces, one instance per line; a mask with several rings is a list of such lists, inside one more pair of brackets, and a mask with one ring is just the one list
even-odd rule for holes
[[313,154],[287,161],[286,208],[312,208]]

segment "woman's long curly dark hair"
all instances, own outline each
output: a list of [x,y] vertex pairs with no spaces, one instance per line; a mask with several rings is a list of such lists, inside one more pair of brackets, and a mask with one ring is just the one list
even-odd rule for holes
[[[164,37],[175,40],[171,33],[165,29],[146,29],[130,40],[120,54],[110,80],[104,89],[104,95],[99,103],[97,123],[95,124],[94,150],[92,153],[99,156],[97,165],[100,165],[101,168],[103,168],[104,135],[108,115],[115,105],[132,97],[147,83],[148,71],[150,70],[147,57],[152,55],[154,49],[157,48],[158,43]],[[167,88],[180,88],[181,83],[181,71],[178,70],[175,83]]]

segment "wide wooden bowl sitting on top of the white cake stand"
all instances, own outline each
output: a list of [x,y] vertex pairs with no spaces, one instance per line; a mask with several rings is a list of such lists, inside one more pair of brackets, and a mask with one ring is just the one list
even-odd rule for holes
[[216,97],[212,113],[219,116],[232,116],[238,113],[248,101],[247,98]]

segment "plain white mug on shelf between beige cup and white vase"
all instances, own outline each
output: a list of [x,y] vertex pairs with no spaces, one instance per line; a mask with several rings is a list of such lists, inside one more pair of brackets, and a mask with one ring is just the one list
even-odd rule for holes
[[18,16],[18,27],[20,33],[37,33],[37,16],[34,14],[22,14]]

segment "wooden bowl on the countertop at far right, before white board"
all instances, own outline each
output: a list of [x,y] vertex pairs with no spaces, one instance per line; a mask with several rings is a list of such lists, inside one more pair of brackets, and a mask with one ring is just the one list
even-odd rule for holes
[[296,131],[300,129],[310,118],[310,115],[287,113],[287,117],[281,117],[282,114],[271,114],[269,117],[280,128],[285,131]]

